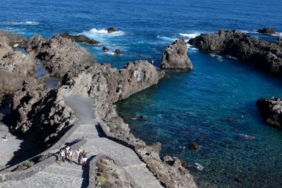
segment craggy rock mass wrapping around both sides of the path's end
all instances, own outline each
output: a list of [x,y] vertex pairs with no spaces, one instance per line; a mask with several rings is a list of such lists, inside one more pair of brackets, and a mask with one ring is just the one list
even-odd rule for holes
[[56,89],[42,90],[37,80],[26,81],[13,97],[12,113],[17,121],[14,130],[45,146],[51,144],[73,124],[72,111],[63,97],[79,94],[90,95],[102,118],[111,122],[111,130],[118,130],[123,137],[129,133],[128,125],[116,124],[122,119],[111,104],[157,84],[161,77],[164,73],[157,72],[147,61],[136,61],[120,70],[109,64],[73,68]]

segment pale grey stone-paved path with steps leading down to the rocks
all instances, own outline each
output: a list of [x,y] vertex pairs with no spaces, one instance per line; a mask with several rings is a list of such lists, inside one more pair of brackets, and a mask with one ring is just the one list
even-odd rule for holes
[[[66,102],[80,122],[80,127],[68,139],[69,143],[85,137],[87,142],[82,150],[88,151],[87,158],[104,153],[120,161],[140,187],[161,187],[159,180],[149,172],[146,164],[140,161],[132,149],[104,137],[94,117],[94,106],[90,97],[69,96]],[[75,160],[74,162],[61,165],[54,163],[30,178],[19,182],[5,182],[0,187],[87,187],[89,170],[82,169],[81,165],[77,165]]]

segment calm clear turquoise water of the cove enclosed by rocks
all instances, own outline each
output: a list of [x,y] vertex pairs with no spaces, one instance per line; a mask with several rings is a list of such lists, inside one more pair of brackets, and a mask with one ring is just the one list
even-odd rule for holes
[[[119,115],[147,115],[147,121],[125,123],[147,144],[161,142],[161,154],[190,163],[200,187],[280,186],[282,132],[264,123],[256,101],[281,96],[281,80],[219,54],[188,55],[194,70],[168,73],[156,86],[118,102]],[[199,150],[188,149],[192,140]]]

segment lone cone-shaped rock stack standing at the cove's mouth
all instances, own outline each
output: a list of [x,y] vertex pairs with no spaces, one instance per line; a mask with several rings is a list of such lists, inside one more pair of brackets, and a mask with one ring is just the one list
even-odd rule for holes
[[187,56],[187,44],[178,39],[163,51],[160,68],[164,70],[190,70],[192,63]]

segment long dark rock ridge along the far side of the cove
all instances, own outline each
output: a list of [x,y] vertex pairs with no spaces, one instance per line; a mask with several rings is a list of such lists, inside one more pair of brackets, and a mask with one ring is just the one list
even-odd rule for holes
[[189,44],[197,49],[228,54],[282,76],[282,48],[277,43],[255,39],[235,30],[220,30],[189,40]]

